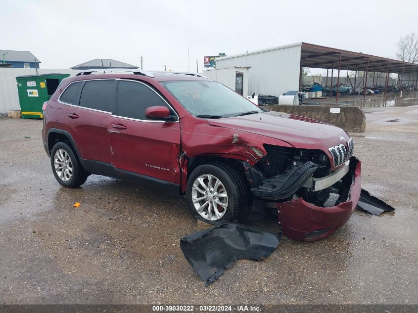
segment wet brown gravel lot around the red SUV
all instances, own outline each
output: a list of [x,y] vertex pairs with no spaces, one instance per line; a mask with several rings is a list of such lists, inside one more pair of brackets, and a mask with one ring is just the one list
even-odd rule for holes
[[182,198],[98,176],[63,188],[42,121],[0,119],[0,303],[418,304],[418,107],[368,112],[367,132],[351,134],[363,186],[396,211],[356,210],[319,242],[283,237],[208,288],[180,250],[202,227]]

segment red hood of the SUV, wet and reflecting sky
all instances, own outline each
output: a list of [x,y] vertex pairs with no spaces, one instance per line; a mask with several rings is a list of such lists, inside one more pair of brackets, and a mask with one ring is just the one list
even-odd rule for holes
[[[239,130],[280,139],[295,148],[320,149],[346,143],[350,138],[342,129],[316,120],[279,112],[208,120],[212,126]],[[340,137],[344,137],[343,140]]]

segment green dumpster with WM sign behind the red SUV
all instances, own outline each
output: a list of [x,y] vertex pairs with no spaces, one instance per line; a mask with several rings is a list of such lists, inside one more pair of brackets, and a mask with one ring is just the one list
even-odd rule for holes
[[42,106],[69,74],[42,74],[16,77],[20,110],[24,119],[42,118]]

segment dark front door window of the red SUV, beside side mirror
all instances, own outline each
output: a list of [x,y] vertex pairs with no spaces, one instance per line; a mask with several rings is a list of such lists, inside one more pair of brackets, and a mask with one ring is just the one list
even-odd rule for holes
[[150,106],[165,106],[170,109],[150,87],[136,82],[119,81],[116,115],[146,120],[145,110]]

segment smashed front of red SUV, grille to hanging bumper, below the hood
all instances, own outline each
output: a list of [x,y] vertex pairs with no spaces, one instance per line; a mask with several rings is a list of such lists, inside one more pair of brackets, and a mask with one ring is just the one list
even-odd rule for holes
[[320,150],[272,145],[265,149],[267,155],[246,173],[253,179],[253,195],[278,210],[283,235],[315,241],[348,221],[361,191],[361,164],[353,156],[352,139],[329,148],[334,171]]

